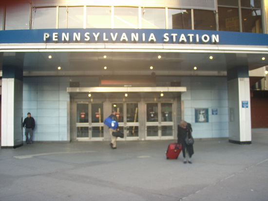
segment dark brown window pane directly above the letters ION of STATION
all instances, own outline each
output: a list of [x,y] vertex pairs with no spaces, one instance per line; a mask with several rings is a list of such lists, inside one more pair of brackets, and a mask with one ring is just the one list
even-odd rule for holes
[[216,30],[216,19],[214,11],[194,10],[195,30]]

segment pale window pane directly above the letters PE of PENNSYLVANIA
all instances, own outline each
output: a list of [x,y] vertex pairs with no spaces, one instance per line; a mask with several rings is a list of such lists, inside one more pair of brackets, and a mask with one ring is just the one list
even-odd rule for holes
[[56,7],[37,8],[32,11],[32,29],[55,29],[56,28]]

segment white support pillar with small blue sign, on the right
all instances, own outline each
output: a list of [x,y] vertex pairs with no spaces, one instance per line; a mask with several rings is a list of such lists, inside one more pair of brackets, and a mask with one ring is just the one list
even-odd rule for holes
[[229,106],[229,142],[251,144],[249,68],[227,71]]

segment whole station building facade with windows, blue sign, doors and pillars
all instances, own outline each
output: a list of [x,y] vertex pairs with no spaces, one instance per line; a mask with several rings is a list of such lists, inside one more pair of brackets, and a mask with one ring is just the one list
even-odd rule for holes
[[[197,3],[198,2],[198,3]],[[25,140],[195,138],[251,143],[250,73],[266,77],[267,0],[0,3],[1,147]],[[259,81],[259,79],[257,79]]]

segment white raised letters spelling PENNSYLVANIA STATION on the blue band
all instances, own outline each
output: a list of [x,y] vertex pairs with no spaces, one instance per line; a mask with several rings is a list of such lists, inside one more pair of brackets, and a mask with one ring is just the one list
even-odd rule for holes
[[[146,33],[122,33],[121,36],[118,33],[89,33],[86,32],[83,36],[81,35],[80,32],[78,33],[44,33],[43,35],[43,40],[44,42],[47,42],[49,40],[52,40],[54,42],[57,42],[58,40],[61,40],[62,42],[70,42],[70,37],[73,39],[74,42],[81,42],[81,40],[85,42],[91,41],[90,35],[93,35],[93,42],[98,42],[99,37],[102,37],[104,42],[115,42],[115,41],[120,41],[120,42],[129,42],[131,39],[132,42],[156,42],[156,37],[154,33],[146,34]],[[172,43],[218,43],[220,41],[219,35],[218,34],[203,34],[199,37],[198,34],[177,34],[177,33],[165,33],[162,37],[163,42],[169,42],[172,41]]]

